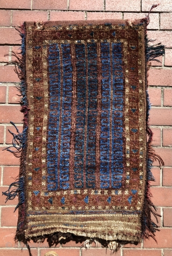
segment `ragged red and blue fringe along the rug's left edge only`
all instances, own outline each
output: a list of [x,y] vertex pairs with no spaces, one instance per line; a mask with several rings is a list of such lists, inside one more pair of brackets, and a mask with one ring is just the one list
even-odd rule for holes
[[[9,189],[3,192],[3,195],[6,196],[6,201],[12,200],[16,196],[19,198],[19,202],[17,208],[19,208],[19,219],[17,224],[17,232],[15,240],[18,240],[19,235],[23,232],[25,226],[25,215],[26,215],[26,206],[25,206],[25,155],[26,155],[26,139],[27,139],[27,127],[28,127],[28,108],[27,98],[26,98],[26,83],[25,83],[25,24],[21,25],[20,28],[16,29],[21,36],[21,47],[20,52],[15,53],[12,52],[12,56],[15,56],[16,60],[9,61],[6,65],[15,65],[15,72],[17,73],[20,84],[17,86],[17,89],[20,91],[21,101],[21,112],[24,113],[23,119],[23,132],[19,132],[16,125],[11,122],[13,126],[16,128],[16,134],[9,131],[12,136],[12,146],[6,148],[7,151],[13,153],[15,157],[20,158],[20,172],[19,178],[16,179],[15,182],[11,183]],[[12,149],[13,148],[13,149]],[[15,187],[15,188],[13,188]],[[23,237],[23,243],[26,244],[29,254],[30,247],[27,244],[27,240]]]

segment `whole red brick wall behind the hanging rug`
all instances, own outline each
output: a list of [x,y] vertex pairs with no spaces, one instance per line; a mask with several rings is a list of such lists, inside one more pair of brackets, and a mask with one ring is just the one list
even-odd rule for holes
[[[160,169],[157,162],[153,167],[156,182],[152,182],[153,202],[161,214],[156,232],[157,244],[149,239],[138,246],[127,245],[116,256],[172,256],[172,2],[161,0],[161,4],[150,14],[148,37],[157,39],[166,45],[165,55],[160,58],[162,63],[152,63],[149,71],[149,95],[152,102],[150,124],[154,132],[153,145],[161,155],[165,167]],[[20,37],[15,26],[24,20],[77,20],[77,19],[134,19],[145,17],[150,7],[156,4],[153,0],[0,0],[0,147],[5,148],[11,143],[8,129],[13,130],[10,120],[21,130],[23,115],[19,111],[19,96],[16,95],[17,75],[13,66],[4,66],[11,60],[9,54],[17,50]],[[0,189],[6,190],[18,175],[19,160],[6,151],[0,153]],[[1,194],[0,194],[1,196]],[[17,200],[5,204],[4,196],[0,198],[0,255],[28,255],[23,244],[15,244],[17,212],[13,214]],[[31,243],[33,256],[42,256],[51,251],[47,243],[38,245]],[[110,251],[95,248],[89,251],[80,250],[80,244],[70,242],[58,245],[59,256],[105,256]]]

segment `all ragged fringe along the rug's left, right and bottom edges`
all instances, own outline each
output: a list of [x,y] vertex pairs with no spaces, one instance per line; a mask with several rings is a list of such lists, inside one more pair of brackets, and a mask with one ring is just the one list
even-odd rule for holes
[[[150,11],[155,8],[157,5],[153,5]],[[150,13],[149,11],[149,13]],[[146,35],[146,27],[149,24],[149,13],[147,18],[142,19],[141,22],[144,22],[146,24],[145,26],[145,54],[146,54],[146,84],[147,84],[147,71],[148,71],[148,62],[149,61],[158,61],[156,58],[164,54],[164,46],[161,45],[161,43],[156,44],[156,45],[149,45],[149,42],[152,42],[153,40],[148,40],[147,35]],[[130,25],[130,24],[128,24]],[[134,241],[125,241],[125,240],[112,240],[112,241],[106,241],[103,239],[98,239],[98,238],[89,238],[89,237],[76,237],[74,234],[71,233],[61,233],[61,232],[56,232],[52,234],[47,234],[44,236],[39,236],[39,237],[32,237],[26,239],[23,234],[24,230],[24,225],[25,223],[25,192],[24,192],[24,187],[25,187],[25,154],[26,154],[26,138],[27,138],[27,116],[28,116],[28,111],[30,110],[28,108],[27,104],[27,98],[26,98],[26,84],[25,84],[25,25],[22,25],[20,27],[20,30],[18,29],[20,35],[21,35],[21,40],[22,40],[22,45],[21,45],[21,52],[19,54],[16,54],[12,52],[12,55],[16,57],[17,60],[15,61],[10,61],[8,62],[7,65],[15,65],[15,72],[18,74],[18,77],[20,79],[20,86],[19,90],[21,93],[22,99],[21,99],[21,112],[24,113],[24,129],[22,133],[19,133],[17,127],[15,124],[11,122],[12,125],[16,127],[17,134],[10,132],[13,136],[13,147],[15,150],[11,150],[11,146],[6,148],[6,150],[12,152],[16,157],[20,157],[20,175],[19,179],[16,180],[16,182],[11,183],[9,189],[5,192],[3,192],[3,195],[6,196],[6,201],[12,200],[16,196],[19,196],[19,203],[16,207],[16,209],[19,207],[19,222],[17,226],[17,233],[16,233],[16,240],[23,241],[23,243],[26,245],[29,251],[29,255],[32,256],[31,251],[30,251],[30,246],[28,245],[28,241],[32,239],[35,243],[43,242],[45,238],[47,238],[47,241],[49,243],[49,246],[53,244],[58,244],[59,241],[64,241],[64,240],[75,240],[75,241],[85,241],[83,246],[85,248],[90,248],[91,244],[94,242],[96,246],[99,246],[100,244],[103,247],[108,247],[112,253],[117,252],[120,247],[122,247],[125,244],[131,243],[131,244],[138,244],[138,242]],[[152,163],[154,161],[159,161],[159,165],[162,166],[164,165],[163,160],[160,158],[159,155],[155,154],[155,151],[153,147],[151,146],[152,143],[152,136],[153,132],[150,130],[149,124],[148,124],[148,117],[149,117],[149,110],[150,110],[150,103],[149,103],[149,97],[148,93],[146,95],[146,102],[147,102],[147,110],[146,110],[146,132],[148,135],[148,141],[147,141],[147,156],[146,156],[146,184],[145,184],[145,202],[144,202],[144,209],[142,210],[142,215],[141,215],[141,223],[142,223],[142,234],[141,234],[141,239],[144,238],[149,238],[152,237],[155,241],[155,234],[154,232],[157,229],[157,225],[151,220],[151,213],[154,215],[157,221],[157,216],[160,216],[156,213],[156,208],[151,202],[150,198],[152,195],[150,194],[150,181],[154,181],[154,177],[151,172],[152,168]],[[21,155],[21,156],[20,156]],[[11,187],[14,186],[16,189],[11,189]],[[15,210],[16,210],[15,209]],[[86,239],[86,240],[85,240]]]

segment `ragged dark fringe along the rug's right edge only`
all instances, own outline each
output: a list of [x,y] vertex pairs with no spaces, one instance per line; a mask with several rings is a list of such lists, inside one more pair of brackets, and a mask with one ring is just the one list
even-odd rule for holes
[[[157,4],[159,5],[159,4]],[[157,5],[153,5],[150,11],[155,8]],[[150,13],[149,11],[149,13]],[[149,24],[149,13],[146,19],[143,19],[143,22],[146,23],[146,27]],[[146,27],[145,27],[145,49],[146,49],[146,86],[148,87],[148,62],[149,61],[157,61],[156,58],[159,56],[162,56],[164,54],[164,45],[161,45],[161,43],[156,44],[156,45],[149,45],[149,42],[153,42],[155,40],[148,40],[147,39],[147,34],[146,34]],[[147,141],[147,156],[146,156],[146,183],[145,183],[145,200],[144,200],[144,208],[142,211],[142,216],[141,216],[141,224],[142,224],[142,239],[146,239],[149,237],[152,237],[155,241],[155,232],[159,231],[157,228],[158,226],[152,221],[151,219],[151,214],[156,219],[156,222],[158,223],[157,216],[161,217],[161,215],[157,214],[156,212],[156,207],[151,201],[152,194],[150,193],[150,181],[155,181],[151,169],[152,169],[152,164],[155,161],[159,162],[159,166],[163,166],[164,162],[161,159],[161,157],[157,154],[155,154],[155,150],[152,147],[152,138],[153,138],[153,132],[149,127],[149,110],[150,110],[150,102],[149,102],[149,96],[148,96],[148,91],[146,91],[146,133],[148,136],[148,141]]]

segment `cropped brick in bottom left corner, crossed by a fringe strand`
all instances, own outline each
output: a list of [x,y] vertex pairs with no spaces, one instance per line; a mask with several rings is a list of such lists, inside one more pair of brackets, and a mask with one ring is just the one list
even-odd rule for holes
[[[15,245],[17,247],[17,244]],[[28,256],[28,249],[0,249],[0,255],[2,256]],[[32,256],[38,256],[38,250],[32,250]]]

